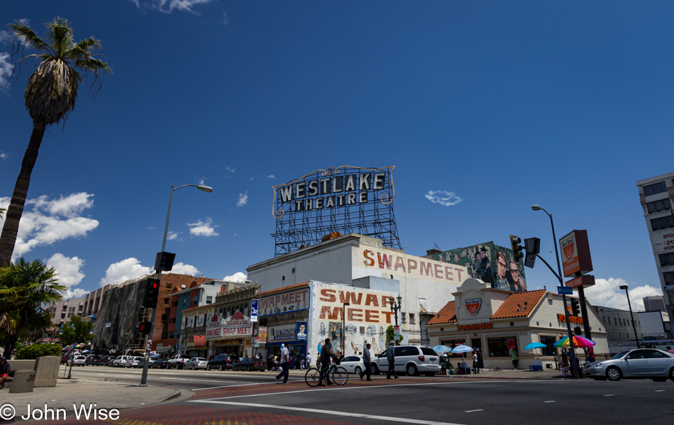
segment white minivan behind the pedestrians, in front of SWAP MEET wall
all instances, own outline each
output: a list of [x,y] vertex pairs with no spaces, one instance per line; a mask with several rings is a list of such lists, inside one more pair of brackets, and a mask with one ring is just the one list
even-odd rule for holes
[[[414,376],[423,373],[426,376],[433,376],[440,372],[440,358],[433,351],[433,348],[427,346],[397,346],[394,348],[396,372],[404,372],[407,375]],[[389,360],[386,358],[386,351],[372,358],[372,370],[374,373],[386,372],[389,368]]]

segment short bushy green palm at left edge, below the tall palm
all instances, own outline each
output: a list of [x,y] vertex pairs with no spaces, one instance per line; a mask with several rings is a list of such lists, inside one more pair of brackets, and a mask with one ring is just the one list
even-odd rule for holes
[[65,290],[56,270],[40,260],[19,258],[0,267],[0,341],[6,357],[17,341],[52,326],[52,315],[43,306],[60,301]]

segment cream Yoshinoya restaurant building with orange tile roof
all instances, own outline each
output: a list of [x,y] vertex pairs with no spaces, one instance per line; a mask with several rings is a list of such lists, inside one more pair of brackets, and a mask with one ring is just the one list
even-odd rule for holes
[[[510,292],[471,278],[454,296],[454,301],[448,302],[427,324],[431,345],[470,346],[482,353],[484,368],[512,369],[512,350],[519,356],[519,368],[556,367],[556,355],[561,350],[553,344],[568,336],[561,295],[543,289]],[[592,341],[597,343],[595,353],[609,353],[606,325],[592,306],[587,307],[589,317],[570,316],[571,327],[582,326],[582,321],[588,320]],[[534,342],[546,347],[524,350]],[[461,355],[454,355],[451,360],[455,367],[460,361]]]

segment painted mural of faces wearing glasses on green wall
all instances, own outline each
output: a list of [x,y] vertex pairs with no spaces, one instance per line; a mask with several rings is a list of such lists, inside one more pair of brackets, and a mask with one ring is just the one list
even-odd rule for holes
[[512,249],[494,245],[493,242],[435,253],[433,260],[463,265],[470,277],[489,283],[492,288],[526,291],[522,262],[513,260]]

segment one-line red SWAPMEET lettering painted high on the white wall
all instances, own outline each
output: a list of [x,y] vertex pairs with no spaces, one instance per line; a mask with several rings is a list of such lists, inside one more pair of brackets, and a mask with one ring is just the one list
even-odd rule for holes
[[383,248],[360,248],[358,265],[386,270],[387,273],[393,275],[418,276],[441,282],[452,282],[454,285],[459,285],[470,277],[468,269],[463,265],[450,265]]

